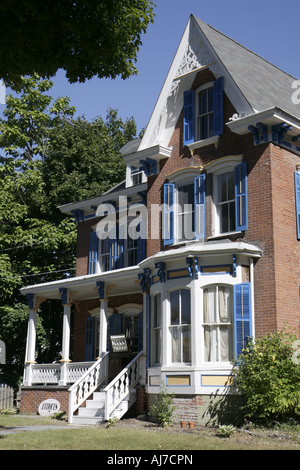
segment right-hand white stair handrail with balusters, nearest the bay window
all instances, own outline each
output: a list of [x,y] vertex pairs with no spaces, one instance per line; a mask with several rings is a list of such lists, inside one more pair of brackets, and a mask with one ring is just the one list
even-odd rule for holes
[[[111,413],[126,398],[136,384],[141,379],[140,358],[143,351],[139,352],[132,361],[124,367],[123,370],[103,389],[105,392],[105,412],[104,419],[106,421],[111,417]],[[134,366],[135,370],[134,370]],[[128,373],[132,373],[133,377],[129,377]]]

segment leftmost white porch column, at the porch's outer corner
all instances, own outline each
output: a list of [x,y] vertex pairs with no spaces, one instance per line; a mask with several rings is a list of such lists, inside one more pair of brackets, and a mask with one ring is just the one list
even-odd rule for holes
[[36,347],[36,316],[37,309],[40,304],[45,300],[35,294],[26,295],[29,305],[29,318],[27,327],[26,338],[26,352],[25,352],[25,370],[24,370],[24,385],[31,385],[32,364],[35,364],[35,347]]

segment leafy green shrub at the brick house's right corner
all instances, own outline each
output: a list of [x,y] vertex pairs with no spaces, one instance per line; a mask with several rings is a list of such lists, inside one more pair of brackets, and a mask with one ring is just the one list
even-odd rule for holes
[[245,418],[253,422],[300,419],[300,364],[293,360],[295,337],[286,332],[250,341],[233,373],[244,396]]

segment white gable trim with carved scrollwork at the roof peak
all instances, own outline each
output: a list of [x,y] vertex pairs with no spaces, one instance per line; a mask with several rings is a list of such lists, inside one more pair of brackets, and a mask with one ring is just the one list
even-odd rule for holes
[[198,22],[191,15],[139,150],[155,145],[169,146],[183,107],[183,92],[191,88],[197,71],[206,67],[216,78],[224,77],[224,91],[239,115],[253,113],[253,109],[232,80]]

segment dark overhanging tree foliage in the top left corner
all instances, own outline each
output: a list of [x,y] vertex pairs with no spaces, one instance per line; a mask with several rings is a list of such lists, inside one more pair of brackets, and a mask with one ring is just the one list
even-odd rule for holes
[[153,22],[150,0],[2,0],[0,75],[10,86],[22,76],[68,80],[136,74],[142,34]]

